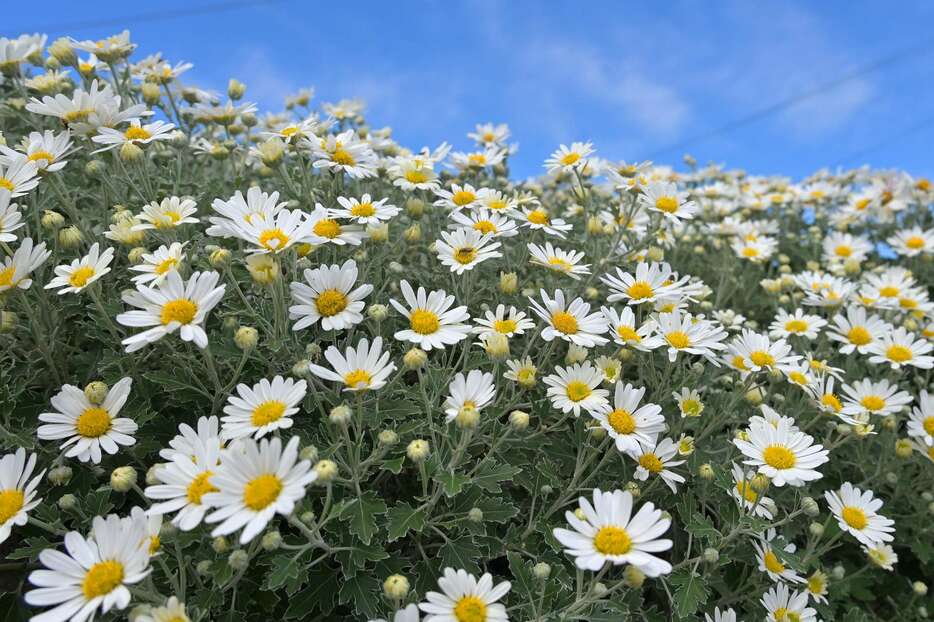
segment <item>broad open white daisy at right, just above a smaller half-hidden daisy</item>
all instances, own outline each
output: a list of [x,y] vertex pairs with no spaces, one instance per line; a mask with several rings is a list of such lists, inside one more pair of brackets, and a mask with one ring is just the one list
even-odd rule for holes
[[787,419],[777,426],[753,425],[749,440],[733,439],[733,444],[748,459],[744,464],[755,467],[776,486],[803,486],[822,477],[817,468],[830,460],[829,451],[815,445],[814,439],[800,430],[792,431]]

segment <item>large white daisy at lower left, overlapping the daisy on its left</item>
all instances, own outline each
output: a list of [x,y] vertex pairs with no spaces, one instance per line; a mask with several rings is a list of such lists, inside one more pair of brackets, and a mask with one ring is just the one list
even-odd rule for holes
[[202,501],[217,508],[205,518],[220,523],[211,532],[226,536],[240,528],[240,544],[255,538],[276,514],[288,516],[305,496],[305,488],[318,474],[308,460],[298,460],[299,438],[293,436],[285,448],[278,437],[261,441],[241,439],[225,452],[211,476],[217,492]]

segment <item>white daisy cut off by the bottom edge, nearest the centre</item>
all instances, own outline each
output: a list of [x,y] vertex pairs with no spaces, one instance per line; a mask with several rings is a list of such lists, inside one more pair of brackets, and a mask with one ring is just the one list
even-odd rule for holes
[[423,622],[506,622],[509,615],[499,599],[512,587],[509,581],[493,586],[490,573],[478,581],[466,570],[445,568],[438,579],[441,592],[425,594],[418,608],[428,614]]

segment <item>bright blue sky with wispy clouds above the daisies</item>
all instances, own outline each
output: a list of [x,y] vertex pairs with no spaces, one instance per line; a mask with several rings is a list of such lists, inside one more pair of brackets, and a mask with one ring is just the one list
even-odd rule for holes
[[[538,174],[572,140],[612,159],[680,165],[688,151],[796,178],[863,163],[934,173],[930,2],[280,0],[212,10],[221,4],[47,0],[39,12],[16,2],[3,34],[97,38],[137,16],[126,27],[140,52],[194,63],[202,86],[223,90],[236,77],[264,108],[306,85],[319,101],[361,97],[370,122],[411,147],[465,149],[475,123],[506,122],[520,144],[517,176]],[[192,9],[205,12],[153,17]],[[889,60],[860,72],[879,59]]]

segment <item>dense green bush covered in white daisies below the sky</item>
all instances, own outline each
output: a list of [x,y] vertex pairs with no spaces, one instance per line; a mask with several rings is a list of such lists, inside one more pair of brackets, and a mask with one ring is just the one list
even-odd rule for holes
[[0,612],[920,620],[934,190],[510,178],[0,39]]

